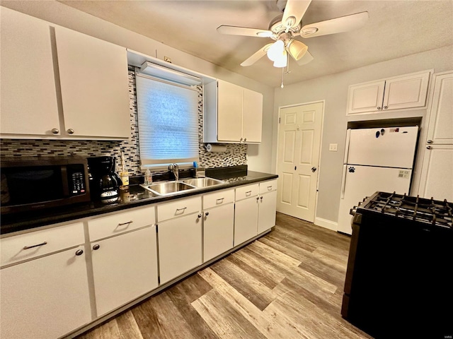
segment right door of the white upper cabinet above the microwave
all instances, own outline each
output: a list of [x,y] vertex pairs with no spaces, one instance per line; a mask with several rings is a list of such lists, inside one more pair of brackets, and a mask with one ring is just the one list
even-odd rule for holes
[[126,49],[66,28],[55,35],[66,133],[129,138]]

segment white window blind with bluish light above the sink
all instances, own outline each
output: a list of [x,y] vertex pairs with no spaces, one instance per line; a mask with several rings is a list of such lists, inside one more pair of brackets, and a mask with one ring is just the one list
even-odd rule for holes
[[142,165],[198,161],[198,91],[136,73]]

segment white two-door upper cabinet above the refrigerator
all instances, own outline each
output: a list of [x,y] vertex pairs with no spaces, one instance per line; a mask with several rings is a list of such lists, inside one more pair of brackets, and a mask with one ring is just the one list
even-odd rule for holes
[[348,113],[424,107],[431,71],[350,85]]

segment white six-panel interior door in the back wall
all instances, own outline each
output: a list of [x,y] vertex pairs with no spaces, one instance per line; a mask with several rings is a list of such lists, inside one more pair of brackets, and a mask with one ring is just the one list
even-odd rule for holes
[[280,110],[277,211],[314,222],[323,102]]

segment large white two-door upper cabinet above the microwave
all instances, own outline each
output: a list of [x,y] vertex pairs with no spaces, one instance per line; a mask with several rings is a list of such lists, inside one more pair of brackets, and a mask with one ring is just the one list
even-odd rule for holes
[[1,137],[130,137],[124,47],[1,7]]

